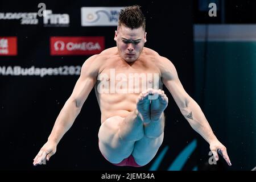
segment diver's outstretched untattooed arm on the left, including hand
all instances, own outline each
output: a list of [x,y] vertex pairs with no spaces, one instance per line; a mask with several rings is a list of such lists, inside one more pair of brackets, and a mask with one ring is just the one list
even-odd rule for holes
[[82,65],[81,75],[76,82],[75,88],[61,109],[52,132],[48,137],[48,141],[40,149],[38,155],[36,155],[33,163],[34,166],[42,164],[55,154],[60,139],[70,129],[80,113],[82,105],[97,81],[98,64],[95,63],[96,59],[97,55],[94,55]]

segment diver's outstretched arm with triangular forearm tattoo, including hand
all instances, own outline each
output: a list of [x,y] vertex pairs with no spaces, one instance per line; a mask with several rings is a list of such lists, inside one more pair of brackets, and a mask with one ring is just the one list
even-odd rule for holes
[[213,134],[210,125],[205,118],[200,106],[193,100],[187,92],[185,92],[176,69],[170,60],[162,57],[162,78],[163,83],[174,97],[174,100],[179,107],[181,113],[187,119],[191,127],[199,133],[209,144],[210,150],[213,152],[214,158],[218,160],[218,154],[221,154],[226,162],[231,166],[229,156],[226,152],[226,147],[218,141]]

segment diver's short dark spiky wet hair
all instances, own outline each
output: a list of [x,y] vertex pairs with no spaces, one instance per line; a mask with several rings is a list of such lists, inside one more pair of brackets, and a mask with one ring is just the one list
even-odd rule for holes
[[128,6],[121,10],[118,19],[118,26],[124,25],[128,28],[146,28],[146,19],[140,9],[140,6]]

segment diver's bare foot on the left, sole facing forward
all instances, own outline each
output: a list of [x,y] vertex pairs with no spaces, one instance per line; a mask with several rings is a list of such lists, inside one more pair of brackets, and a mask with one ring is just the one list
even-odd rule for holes
[[146,91],[139,94],[137,99],[137,110],[139,116],[141,117],[144,123],[150,123],[150,99],[148,96],[151,96],[153,89],[147,89]]

